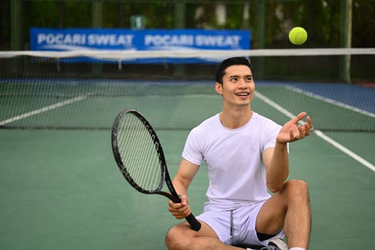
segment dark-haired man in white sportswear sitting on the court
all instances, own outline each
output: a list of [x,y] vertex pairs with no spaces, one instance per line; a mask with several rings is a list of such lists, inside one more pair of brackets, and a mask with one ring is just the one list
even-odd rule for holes
[[[188,187],[206,162],[209,201],[197,216],[201,229],[187,222],[166,234],[169,249],[239,249],[236,245],[263,245],[264,249],[308,249],[311,211],[307,184],[286,181],[289,175],[288,143],[309,136],[312,123],[305,112],[279,126],[251,110],[254,76],[249,61],[234,57],[216,71],[216,92],[223,109],[194,128],[186,139],[183,159],[173,184],[181,203],[169,201],[177,219],[191,213]],[[272,195],[267,191],[271,191]],[[272,245],[272,246],[271,246]]]

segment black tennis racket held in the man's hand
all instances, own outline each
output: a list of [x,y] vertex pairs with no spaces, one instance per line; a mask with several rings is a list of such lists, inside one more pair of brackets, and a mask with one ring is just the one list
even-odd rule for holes
[[[181,202],[166,169],[158,136],[139,111],[121,111],[112,126],[111,139],[114,159],[126,181],[134,189],[143,194],[161,194],[175,203]],[[164,181],[170,193],[161,191]],[[193,214],[185,219],[191,229],[201,229],[201,224]]]

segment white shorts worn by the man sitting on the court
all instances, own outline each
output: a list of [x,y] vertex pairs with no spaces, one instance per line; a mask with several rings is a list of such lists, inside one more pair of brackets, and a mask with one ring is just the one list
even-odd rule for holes
[[[256,217],[258,216],[264,202],[246,204],[238,209],[221,211],[210,206],[209,202],[204,204],[204,212],[197,219],[204,221],[219,236],[220,241],[228,245],[253,244],[267,246],[270,239],[259,241],[256,235]],[[284,238],[284,230],[272,236]]]

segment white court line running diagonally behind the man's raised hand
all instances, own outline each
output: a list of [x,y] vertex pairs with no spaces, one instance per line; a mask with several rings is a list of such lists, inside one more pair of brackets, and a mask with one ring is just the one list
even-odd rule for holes
[[[296,117],[296,115],[291,114],[291,112],[289,112],[288,110],[284,109],[279,104],[276,104],[271,99],[267,98],[263,94],[260,94],[259,91],[256,91],[255,94],[256,94],[257,97],[259,97],[259,99],[261,99],[262,101],[264,101],[266,104],[269,104],[270,106],[274,107],[275,109],[277,109],[278,111],[280,111],[282,114],[285,114],[290,119],[293,119],[294,117]],[[344,154],[350,156],[354,160],[358,161],[360,164],[366,166],[367,168],[369,168],[372,171],[375,171],[375,166],[373,164],[371,164],[369,161],[366,161],[365,159],[363,159],[361,156],[359,156],[358,154],[354,153],[353,151],[347,149],[345,146],[339,144],[337,141],[334,141],[334,139],[331,139],[329,136],[326,136],[322,131],[320,131],[320,130],[314,130],[313,132],[317,136],[319,136],[321,139],[323,139],[324,141],[326,141],[329,144],[331,144],[332,146],[336,147],[336,149],[341,150],[342,152],[344,152]]]

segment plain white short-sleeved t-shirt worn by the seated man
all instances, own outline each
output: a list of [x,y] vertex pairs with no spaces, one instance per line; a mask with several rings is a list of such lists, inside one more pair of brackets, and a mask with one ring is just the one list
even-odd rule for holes
[[211,204],[236,209],[269,198],[262,155],[275,146],[280,129],[255,112],[241,128],[227,129],[216,114],[190,131],[182,157],[196,165],[206,162]]

